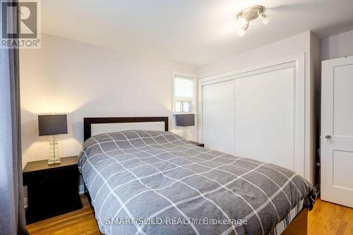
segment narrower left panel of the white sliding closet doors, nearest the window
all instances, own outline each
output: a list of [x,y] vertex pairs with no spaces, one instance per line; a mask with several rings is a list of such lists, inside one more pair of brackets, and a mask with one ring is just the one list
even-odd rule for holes
[[202,96],[205,147],[234,154],[234,80],[204,85]]

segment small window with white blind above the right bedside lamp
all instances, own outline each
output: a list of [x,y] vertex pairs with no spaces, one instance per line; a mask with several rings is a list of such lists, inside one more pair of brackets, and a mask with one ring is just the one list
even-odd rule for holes
[[195,112],[196,85],[195,76],[174,73],[173,112]]

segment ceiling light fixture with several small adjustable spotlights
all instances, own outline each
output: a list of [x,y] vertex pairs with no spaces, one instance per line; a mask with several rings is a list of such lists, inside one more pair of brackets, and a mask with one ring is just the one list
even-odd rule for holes
[[244,36],[246,30],[249,28],[249,22],[257,18],[263,20],[263,24],[266,25],[270,22],[270,18],[265,15],[265,7],[263,6],[251,6],[237,14],[237,25],[238,35]]

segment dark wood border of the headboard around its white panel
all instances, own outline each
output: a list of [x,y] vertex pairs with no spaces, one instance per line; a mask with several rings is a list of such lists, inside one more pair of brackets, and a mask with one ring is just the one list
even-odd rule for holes
[[164,122],[164,131],[168,131],[167,116],[141,116],[141,117],[92,117],[83,119],[83,137],[91,137],[91,124],[97,123],[133,123],[133,122]]

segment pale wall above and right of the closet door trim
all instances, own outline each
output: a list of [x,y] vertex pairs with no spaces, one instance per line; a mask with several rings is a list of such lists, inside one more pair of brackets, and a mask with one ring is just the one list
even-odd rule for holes
[[[244,37],[246,40],[246,36]],[[198,68],[198,78],[205,78],[217,73],[225,73],[235,71],[240,68],[256,66],[268,63],[270,61],[278,61],[289,56],[297,54],[305,54],[305,176],[311,183],[314,183],[315,177],[315,155],[316,146],[316,90],[318,87],[319,74],[319,41],[311,32],[304,32],[300,35],[290,37],[264,47],[253,49],[249,52],[236,54],[222,61],[218,61],[208,66]]]

